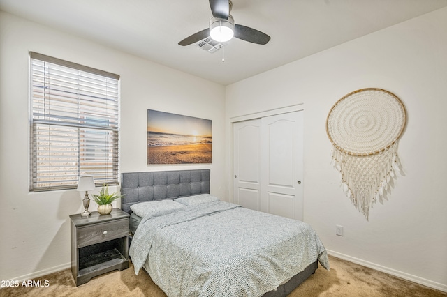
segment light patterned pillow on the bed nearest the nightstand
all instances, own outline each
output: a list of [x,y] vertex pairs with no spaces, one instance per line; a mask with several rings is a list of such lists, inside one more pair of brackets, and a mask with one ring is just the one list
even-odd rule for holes
[[141,218],[167,215],[186,208],[184,204],[173,200],[140,202],[131,205],[131,210]]

